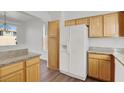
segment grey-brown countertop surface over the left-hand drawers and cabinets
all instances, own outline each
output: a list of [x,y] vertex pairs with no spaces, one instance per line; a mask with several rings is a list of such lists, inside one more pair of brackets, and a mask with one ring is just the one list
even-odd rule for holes
[[9,64],[13,64],[13,63],[17,63],[17,62],[20,62],[23,60],[28,60],[32,57],[37,57],[37,56],[40,56],[40,54],[35,54],[35,53],[29,52],[29,53],[22,55],[22,56],[15,56],[15,57],[11,57],[11,58],[1,58],[0,59],[0,67],[6,66]]

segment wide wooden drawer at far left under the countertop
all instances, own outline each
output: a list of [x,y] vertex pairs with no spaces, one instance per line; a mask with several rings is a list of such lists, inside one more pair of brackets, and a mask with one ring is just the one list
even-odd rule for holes
[[0,68],[0,77],[11,74],[24,68],[24,62],[14,63]]

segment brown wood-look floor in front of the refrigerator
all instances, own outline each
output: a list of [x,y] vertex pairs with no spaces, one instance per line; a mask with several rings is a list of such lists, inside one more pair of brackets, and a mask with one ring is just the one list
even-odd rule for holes
[[[41,61],[41,81],[42,82],[84,82],[79,79],[72,78],[59,71],[50,70],[47,68],[47,62]],[[85,82],[99,82],[98,80],[87,78]]]

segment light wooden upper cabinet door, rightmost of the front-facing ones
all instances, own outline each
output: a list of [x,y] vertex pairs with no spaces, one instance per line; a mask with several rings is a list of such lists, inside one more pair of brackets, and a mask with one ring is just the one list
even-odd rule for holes
[[118,36],[118,14],[104,15],[104,36]]

